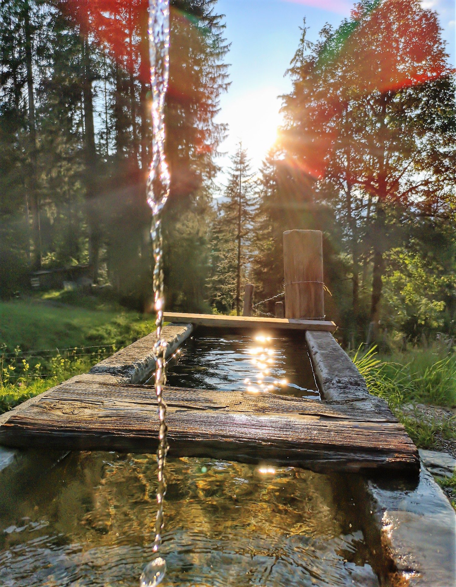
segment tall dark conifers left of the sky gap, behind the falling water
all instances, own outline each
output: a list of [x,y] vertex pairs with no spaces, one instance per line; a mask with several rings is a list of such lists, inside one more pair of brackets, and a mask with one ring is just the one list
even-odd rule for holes
[[[210,186],[225,133],[215,116],[228,87],[228,46],[214,4],[171,0],[165,245],[173,262],[165,269],[168,300],[181,309],[204,306]],[[147,2],[105,8],[80,0],[0,4],[1,298],[27,289],[35,265],[89,263],[94,281],[111,284],[124,306],[150,307]]]

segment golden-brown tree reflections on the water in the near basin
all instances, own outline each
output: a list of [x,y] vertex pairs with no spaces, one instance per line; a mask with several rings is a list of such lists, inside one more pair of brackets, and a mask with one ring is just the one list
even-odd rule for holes
[[[197,458],[168,462],[163,553],[171,584],[303,585],[309,573],[334,584],[348,577],[343,559],[369,562],[356,508],[349,491],[340,491],[342,477],[295,468],[261,474],[259,468]],[[22,566],[5,561],[2,573],[16,573],[16,581],[19,573],[45,576],[46,565],[55,570],[60,556],[72,580],[92,576],[98,584],[95,578],[117,573],[114,583],[130,585],[151,554],[155,489],[152,455],[70,454],[22,492],[19,511],[2,512],[3,527],[23,517],[48,521],[32,535],[7,536],[4,548],[31,537],[37,542],[25,545]]]

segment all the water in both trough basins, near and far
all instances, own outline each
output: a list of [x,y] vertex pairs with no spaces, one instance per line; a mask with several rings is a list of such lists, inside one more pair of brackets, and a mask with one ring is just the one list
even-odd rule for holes
[[[254,393],[272,380],[279,382],[273,393],[316,400],[302,340],[275,336],[197,331],[171,362],[168,383],[229,393],[248,387],[250,369]],[[264,377],[253,377],[252,367]],[[154,560],[156,456],[73,452],[46,469],[37,452],[33,467],[6,487],[0,483],[0,585],[136,586],[144,564]],[[356,479],[173,458],[171,447],[162,584],[379,585],[381,546],[373,522],[366,531]]]

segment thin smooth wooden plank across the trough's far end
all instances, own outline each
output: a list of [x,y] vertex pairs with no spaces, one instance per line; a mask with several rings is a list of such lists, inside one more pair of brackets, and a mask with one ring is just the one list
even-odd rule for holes
[[281,330],[324,330],[334,332],[334,322],[327,320],[295,320],[288,318],[256,318],[254,316],[221,316],[218,314],[187,314],[164,312],[167,322],[190,322],[215,328],[269,328]]

